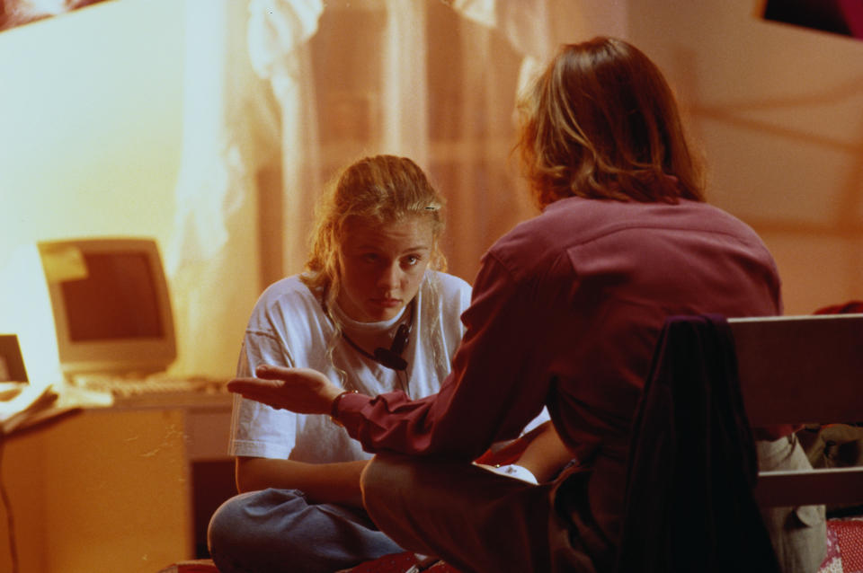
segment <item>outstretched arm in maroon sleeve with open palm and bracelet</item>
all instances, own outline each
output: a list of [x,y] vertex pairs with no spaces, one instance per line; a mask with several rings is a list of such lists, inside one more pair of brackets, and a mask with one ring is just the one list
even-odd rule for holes
[[[308,368],[259,366],[257,378],[228,389],[273,408],[330,414],[369,451],[443,454],[472,461],[494,441],[512,439],[536,417],[550,378],[547,324],[554,306],[532,285],[519,285],[495,260],[477,277],[467,332],[440,392],[411,401],[404,392],[372,398],[347,393]],[[524,332],[536,333],[524,336]]]

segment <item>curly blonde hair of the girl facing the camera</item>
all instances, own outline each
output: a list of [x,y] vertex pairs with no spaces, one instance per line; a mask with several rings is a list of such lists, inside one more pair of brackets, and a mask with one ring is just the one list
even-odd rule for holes
[[[334,336],[327,348],[331,362],[335,343],[343,328],[332,309],[342,287],[340,257],[348,222],[359,219],[372,225],[386,225],[410,217],[430,221],[432,252],[429,269],[443,271],[447,269],[447,260],[440,249],[440,235],[444,230],[443,207],[444,199],[423,170],[410,159],[395,155],[375,155],[351,163],[327,186],[317,205],[306,272],[300,279],[321,297],[325,311],[335,325]],[[423,315],[427,332],[436,331],[440,322],[440,313],[436,312],[440,304],[440,287],[432,277],[427,273],[423,278],[424,292],[430,298]],[[432,339],[432,350],[436,364],[446,360],[442,356],[442,341]],[[344,378],[344,371],[336,368]]]

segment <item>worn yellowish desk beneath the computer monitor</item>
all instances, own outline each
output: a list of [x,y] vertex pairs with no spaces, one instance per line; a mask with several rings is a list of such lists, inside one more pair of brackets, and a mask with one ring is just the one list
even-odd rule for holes
[[[91,408],[8,437],[0,477],[22,573],[154,573],[199,554],[233,493],[222,404]],[[0,519],[0,570],[11,570]]]

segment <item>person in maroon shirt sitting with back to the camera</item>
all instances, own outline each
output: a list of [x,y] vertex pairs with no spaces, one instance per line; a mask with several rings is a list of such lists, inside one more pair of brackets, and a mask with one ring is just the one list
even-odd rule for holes
[[[280,367],[228,387],[332,413],[378,453],[363,501],[403,547],[465,571],[605,573],[630,426],[666,317],[777,314],[780,282],[758,235],[704,202],[672,92],[640,50],[610,38],[565,45],[520,107],[542,213],[486,252],[440,392],[343,393],[312,370]],[[578,461],[557,480],[503,480],[467,463],[544,405]],[[779,467],[803,457],[787,437],[768,451]],[[786,570],[817,569],[824,525],[814,514],[812,527],[788,511],[779,519]]]

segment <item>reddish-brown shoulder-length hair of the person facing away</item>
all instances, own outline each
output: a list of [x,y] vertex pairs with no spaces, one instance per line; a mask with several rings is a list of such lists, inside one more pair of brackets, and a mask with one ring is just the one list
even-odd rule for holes
[[538,207],[566,197],[703,198],[703,171],[659,68],[623,40],[562,46],[519,101],[518,148]]

